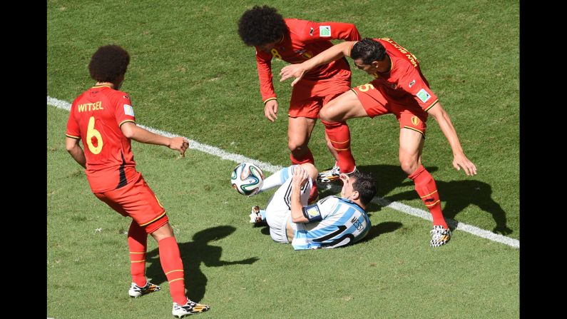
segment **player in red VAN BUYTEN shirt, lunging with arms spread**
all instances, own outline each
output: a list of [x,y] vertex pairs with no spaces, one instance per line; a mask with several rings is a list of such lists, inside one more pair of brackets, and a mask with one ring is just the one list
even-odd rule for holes
[[[454,168],[458,171],[463,168],[466,175],[471,176],[476,174],[476,166],[464,155],[451,119],[429,88],[429,83],[419,69],[417,58],[389,38],[347,41],[303,64],[286,66],[280,72],[281,81],[295,77],[293,86],[310,69],[344,56],[350,56],[357,68],[372,75],[374,81],[352,88],[328,103],[320,112],[322,121],[344,122],[349,118],[374,118],[387,113],[396,116],[400,127],[399,163],[414,181],[415,190],[433,217],[431,247],[444,245],[451,239],[451,231],[441,212],[435,181],[422,165],[428,115],[435,118],[449,141]],[[347,138],[344,131],[327,133],[334,141]],[[339,167],[342,168],[340,161]]]

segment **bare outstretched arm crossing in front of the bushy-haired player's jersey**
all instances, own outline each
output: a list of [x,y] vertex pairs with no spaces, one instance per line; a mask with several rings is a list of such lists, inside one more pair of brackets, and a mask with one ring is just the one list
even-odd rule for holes
[[302,64],[290,64],[289,66],[285,66],[282,71],[280,71],[280,82],[290,79],[291,77],[295,77],[295,80],[292,82],[292,86],[295,86],[295,83],[300,81],[307,71],[310,71],[322,64],[328,64],[332,61],[341,59],[343,56],[349,56],[349,49],[354,42],[356,41],[344,41],[340,44],[331,46],[329,49],[322,51],[320,54],[317,54]]

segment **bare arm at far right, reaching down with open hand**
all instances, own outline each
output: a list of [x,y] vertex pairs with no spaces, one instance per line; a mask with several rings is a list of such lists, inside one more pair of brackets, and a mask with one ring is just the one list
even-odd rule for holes
[[449,141],[449,145],[453,151],[453,167],[456,168],[457,171],[461,171],[461,168],[463,168],[466,175],[476,175],[476,166],[464,155],[459,137],[456,135],[453,123],[451,123],[451,118],[449,118],[449,114],[447,114],[441,106],[441,103],[437,102],[427,113],[435,118],[435,121],[439,124],[439,128],[441,128],[447,141]]

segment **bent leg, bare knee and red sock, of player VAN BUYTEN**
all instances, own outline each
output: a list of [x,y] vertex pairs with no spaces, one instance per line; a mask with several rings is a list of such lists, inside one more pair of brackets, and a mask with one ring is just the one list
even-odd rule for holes
[[332,147],[337,151],[341,172],[352,173],[356,168],[350,151],[350,131],[347,119],[367,116],[362,103],[354,91],[349,90],[334,98],[321,108],[321,122]]

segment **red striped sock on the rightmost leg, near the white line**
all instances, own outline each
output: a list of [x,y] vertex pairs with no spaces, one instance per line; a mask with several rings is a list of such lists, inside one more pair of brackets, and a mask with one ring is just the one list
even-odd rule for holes
[[408,178],[414,181],[415,191],[417,191],[419,197],[422,198],[423,203],[429,209],[429,212],[431,212],[433,225],[441,225],[449,229],[443,217],[443,212],[441,211],[441,200],[439,200],[437,186],[431,174],[423,165],[420,165]]

